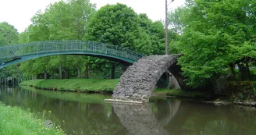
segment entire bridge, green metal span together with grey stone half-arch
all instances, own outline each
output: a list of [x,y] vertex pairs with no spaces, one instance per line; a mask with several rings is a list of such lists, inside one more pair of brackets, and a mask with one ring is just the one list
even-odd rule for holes
[[91,55],[120,62],[126,66],[133,65],[121,76],[112,95],[115,100],[148,102],[151,92],[163,74],[168,81],[170,80],[169,83],[172,82],[172,87],[184,86],[180,67],[176,66],[180,55],[143,57],[143,54],[126,48],[94,41],[41,41],[7,45],[0,48],[0,69],[49,55]]

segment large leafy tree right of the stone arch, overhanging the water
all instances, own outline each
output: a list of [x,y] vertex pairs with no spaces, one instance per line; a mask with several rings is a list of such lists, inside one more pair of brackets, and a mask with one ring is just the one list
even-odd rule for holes
[[225,74],[250,79],[249,62],[255,58],[256,2],[250,0],[195,0],[183,12],[179,63],[187,83],[200,87]]

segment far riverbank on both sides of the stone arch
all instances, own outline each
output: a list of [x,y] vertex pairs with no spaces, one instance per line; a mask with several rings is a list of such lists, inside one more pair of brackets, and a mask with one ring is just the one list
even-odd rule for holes
[[[112,93],[119,79],[115,80],[92,80],[92,79],[68,79],[68,80],[28,80],[20,83],[20,86],[35,87],[37,89],[51,91],[69,91],[86,93]],[[237,85],[237,84],[236,84]],[[233,85],[230,85],[230,87]],[[237,87],[237,86],[236,86]],[[242,91],[242,90],[240,90]],[[244,90],[243,90],[244,91]],[[230,93],[230,92],[229,92]],[[213,95],[211,91],[180,91],[170,89],[156,89],[152,96],[169,98],[193,98],[214,105],[247,105],[256,106],[254,100],[240,98],[248,92],[232,93],[226,97]],[[252,94],[250,94],[252,95]],[[245,97],[245,96],[243,96]]]

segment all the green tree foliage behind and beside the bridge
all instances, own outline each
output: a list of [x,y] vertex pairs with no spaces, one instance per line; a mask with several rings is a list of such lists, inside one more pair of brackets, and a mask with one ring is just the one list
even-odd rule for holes
[[[219,77],[254,80],[256,2],[251,0],[187,0],[169,12],[169,53],[182,53],[179,64],[191,87],[213,84]],[[137,14],[123,4],[96,11],[89,0],[69,0],[37,12],[19,34],[0,23],[0,45],[49,40],[90,40],[130,48],[146,55],[163,55],[161,21]],[[19,75],[15,66],[2,76]],[[115,78],[126,67],[89,56],[60,55],[22,62],[23,76],[32,78]],[[118,75],[115,75],[118,73]],[[83,76],[84,74],[84,76]]]

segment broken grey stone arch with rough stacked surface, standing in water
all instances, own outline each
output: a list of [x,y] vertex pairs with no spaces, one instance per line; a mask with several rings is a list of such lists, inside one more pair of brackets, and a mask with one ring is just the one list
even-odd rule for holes
[[183,87],[183,77],[179,76],[180,73],[175,73],[176,68],[173,68],[176,66],[178,57],[180,55],[150,55],[133,63],[121,76],[112,99],[148,102],[155,85],[164,73],[172,76],[171,79],[174,82],[172,84]]

